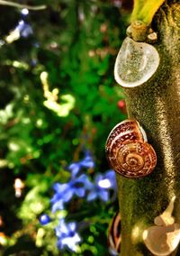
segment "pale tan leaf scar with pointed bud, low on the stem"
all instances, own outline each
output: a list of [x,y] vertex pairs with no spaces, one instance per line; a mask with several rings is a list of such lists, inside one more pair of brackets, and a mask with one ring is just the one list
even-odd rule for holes
[[163,214],[154,219],[154,224],[144,230],[142,239],[148,250],[157,256],[171,255],[180,242],[180,224],[172,216],[175,197],[172,197]]

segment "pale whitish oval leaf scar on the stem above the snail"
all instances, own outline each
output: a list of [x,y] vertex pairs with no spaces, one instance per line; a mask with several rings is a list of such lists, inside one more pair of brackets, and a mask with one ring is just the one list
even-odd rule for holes
[[156,48],[127,37],[118,53],[114,77],[121,87],[138,87],[153,76],[159,65]]

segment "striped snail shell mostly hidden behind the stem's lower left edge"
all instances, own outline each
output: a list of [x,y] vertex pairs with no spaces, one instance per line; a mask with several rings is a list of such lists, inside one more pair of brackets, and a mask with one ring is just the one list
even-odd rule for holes
[[107,242],[111,255],[119,255],[121,250],[121,215],[116,213],[108,228]]

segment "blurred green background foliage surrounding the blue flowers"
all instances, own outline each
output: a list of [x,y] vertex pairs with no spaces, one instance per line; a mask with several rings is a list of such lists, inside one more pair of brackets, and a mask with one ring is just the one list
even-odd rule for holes
[[[12,43],[5,38],[21,10],[0,5],[1,255],[76,255],[59,252],[54,223],[42,227],[38,218],[50,215],[52,184],[67,181],[66,166],[84,148],[94,155],[91,176],[109,169],[104,144],[126,116],[113,78],[126,17],[114,2],[29,1],[47,8],[30,11],[25,20],[33,34]],[[15,178],[23,180],[21,197],[14,194]],[[59,215],[86,220],[77,254],[108,255],[107,227],[117,202],[80,206],[75,199],[57,221]]]

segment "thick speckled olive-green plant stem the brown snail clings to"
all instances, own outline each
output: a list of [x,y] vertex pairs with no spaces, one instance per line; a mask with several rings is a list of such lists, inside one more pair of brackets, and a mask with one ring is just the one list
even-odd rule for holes
[[157,152],[157,167],[145,178],[116,176],[121,256],[153,255],[142,241],[142,233],[174,196],[173,216],[180,224],[180,2],[169,2],[153,21],[160,56],[155,76],[140,87],[124,90],[129,117],[138,120],[146,131],[148,142]]

